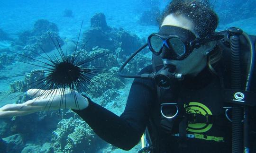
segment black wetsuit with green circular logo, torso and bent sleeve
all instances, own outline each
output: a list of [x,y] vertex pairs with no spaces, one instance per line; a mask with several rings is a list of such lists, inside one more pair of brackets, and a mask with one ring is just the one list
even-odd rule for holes
[[[141,73],[151,72],[152,66],[149,66]],[[74,111],[91,126],[98,136],[124,150],[131,149],[139,142],[147,126],[149,133],[153,136],[153,144],[158,145],[159,150],[155,148],[154,153],[231,152],[231,123],[226,119],[225,109],[223,109],[230,104],[223,102],[218,77],[211,75],[205,69],[197,77],[187,78],[174,86],[170,94],[177,97],[177,99],[174,98],[175,102],[182,103],[187,113],[213,116],[211,123],[188,125],[186,132],[188,146],[184,147],[183,151],[178,143],[178,125],[174,125],[171,133],[164,132],[159,126],[160,104],[157,102],[156,86],[152,80],[134,80],[126,108],[120,117],[91,101],[88,108]],[[254,117],[253,115],[250,114],[251,117]],[[252,128],[255,128],[255,122],[251,124]],[[255,141],[255,136],[252,134],[251,136]]]

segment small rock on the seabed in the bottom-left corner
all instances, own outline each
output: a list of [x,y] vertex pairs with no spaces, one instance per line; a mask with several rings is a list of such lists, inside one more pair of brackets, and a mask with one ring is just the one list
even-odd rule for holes
[[24,147],[23,136],[15,134],[6,138],[3,138],[6,143],[6,150],[8,153],[20,153]]

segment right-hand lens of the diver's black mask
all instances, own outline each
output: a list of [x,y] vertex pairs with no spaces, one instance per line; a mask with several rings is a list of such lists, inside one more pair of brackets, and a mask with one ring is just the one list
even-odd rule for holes
[[171,38],[168,40],[168,43],[178,56],[182,56],[185,53],[185,45],[179,38]]

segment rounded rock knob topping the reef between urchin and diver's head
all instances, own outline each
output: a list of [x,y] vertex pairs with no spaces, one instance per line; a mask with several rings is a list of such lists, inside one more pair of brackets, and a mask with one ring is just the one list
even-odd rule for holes
[[91,28],[99,28],[102,31],[110,29],[103,13],[96,13],[93,17],[91,17]]

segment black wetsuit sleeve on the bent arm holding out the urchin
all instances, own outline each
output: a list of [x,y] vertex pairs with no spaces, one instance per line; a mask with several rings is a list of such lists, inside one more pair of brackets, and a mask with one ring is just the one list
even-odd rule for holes
[[[148,70],[144,68],[143,71]],[[155,102],[154,83],[135,79],[124,112],[117,116],[89,99],[84,110],[73,110],[103,140],[121,149],[130,150],[140,140],[149,122],[149,112]],[[124,97],[125,98],[125,97]]]

